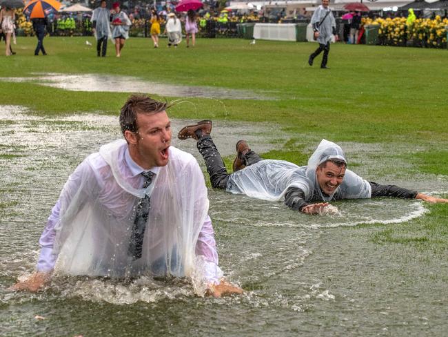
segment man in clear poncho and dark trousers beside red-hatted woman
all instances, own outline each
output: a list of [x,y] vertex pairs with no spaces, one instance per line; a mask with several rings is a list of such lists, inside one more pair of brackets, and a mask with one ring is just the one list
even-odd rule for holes
[[96,56],[105,57],[108,50],[108,39],[112,37],[110,30],[110,11],[106,8],[106,1],[101,0],[101,5],[92,13],[92,29],[96,39]]

